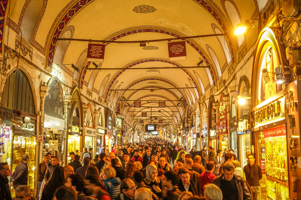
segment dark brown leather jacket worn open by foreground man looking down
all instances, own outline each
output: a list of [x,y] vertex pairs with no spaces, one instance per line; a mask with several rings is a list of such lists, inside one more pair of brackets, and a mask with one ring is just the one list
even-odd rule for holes
[[[215,184],[217,187],[221,187],[221,180],[222,180],[223,175],[219,175],[216,178],[213,179],[211,183]],[[238,191],[238,200],[253,200],[253,196],[250,193],[247,184],[244,182],[244,180],[235,174],[233,175],[234,182],[237,187]]]

